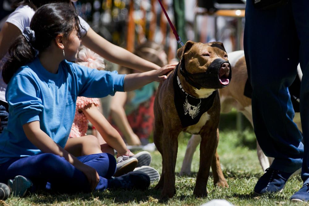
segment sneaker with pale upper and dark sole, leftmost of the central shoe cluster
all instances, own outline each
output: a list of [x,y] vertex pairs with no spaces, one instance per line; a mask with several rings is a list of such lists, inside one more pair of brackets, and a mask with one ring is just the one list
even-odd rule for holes
[[133,171],[137,164],[137,158],[129,158],[129,156],[118,157],[114,177],[119,177],[123,174]]

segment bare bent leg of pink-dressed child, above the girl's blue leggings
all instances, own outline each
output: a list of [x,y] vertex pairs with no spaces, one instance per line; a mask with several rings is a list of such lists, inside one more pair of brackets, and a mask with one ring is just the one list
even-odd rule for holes
[[69,138],[64,149],[75,157],[102,153],[98,139],[92,135]]

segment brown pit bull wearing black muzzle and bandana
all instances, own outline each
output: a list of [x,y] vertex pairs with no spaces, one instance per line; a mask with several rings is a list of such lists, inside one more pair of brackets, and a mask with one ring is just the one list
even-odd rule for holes
[[178,49],[177,56],[180,63],[160,83],[154,104],[154,142],[163,165],[156,188],[163,188],[163,199],[176,194],[177,138],[182,131],[201,135],[200,168],[193,194],[207,196],[210,166],[214,185],[228,187],[216,151],[220,120],[218,89],[228,86],[231,80],[226,51],[221,42],[188,41]]

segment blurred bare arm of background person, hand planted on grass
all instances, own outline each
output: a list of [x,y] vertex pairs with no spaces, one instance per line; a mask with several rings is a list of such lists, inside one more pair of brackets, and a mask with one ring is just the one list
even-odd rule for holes
[[127,116],[125,114],[124,106],[127,99],[126,92],[116,92],[112,97],[110,105],[110,113],[112,119],[117,127],[121,130],[129,145],[141,145],[138,136],[133,132]]

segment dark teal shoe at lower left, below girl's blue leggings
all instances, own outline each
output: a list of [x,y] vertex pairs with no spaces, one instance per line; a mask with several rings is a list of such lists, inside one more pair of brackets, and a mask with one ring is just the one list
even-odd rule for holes
[[25,196],[28,189],[32,187],[31,180],[21,175],[16,176],[14,180],[9,179],[7,184],[12,194],[19,197]]

